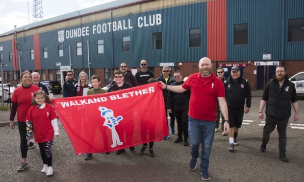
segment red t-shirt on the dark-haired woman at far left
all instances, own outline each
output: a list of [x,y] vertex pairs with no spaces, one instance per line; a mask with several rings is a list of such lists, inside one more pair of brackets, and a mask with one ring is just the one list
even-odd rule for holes
[[17,121],[26,122],[26,114],[31,106],[32,97],[36,91],[41,89],[35,85],[31,85],[28,88],[22,86],[18,87],[13,95],[12,102],[18,103],[17,107]]

